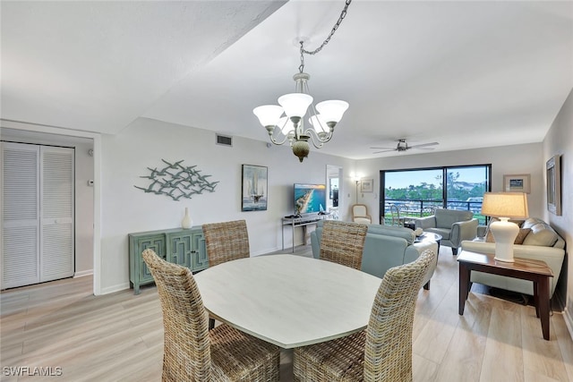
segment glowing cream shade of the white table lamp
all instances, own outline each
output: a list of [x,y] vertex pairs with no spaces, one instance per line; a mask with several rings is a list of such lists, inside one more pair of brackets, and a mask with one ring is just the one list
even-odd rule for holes
[[523,192],[485,192],[482,215],[523,219],[529,216],[527,195]]

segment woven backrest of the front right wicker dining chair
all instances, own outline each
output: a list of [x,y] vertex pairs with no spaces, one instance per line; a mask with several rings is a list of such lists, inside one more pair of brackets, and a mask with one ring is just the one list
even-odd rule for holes
[[424,250],[415,261],[392,267],[384,275],[366,329],[365,381],[412,380],[415,301],[435,262],[436,254]]

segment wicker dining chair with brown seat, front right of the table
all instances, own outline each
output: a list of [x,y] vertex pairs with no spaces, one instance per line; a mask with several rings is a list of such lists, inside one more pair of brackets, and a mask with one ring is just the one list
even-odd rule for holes
[[424,250],[415,261],[390,268],[362,332],[296,348],[295,381],[412,381],[415,301],[435,261],[435,253]]

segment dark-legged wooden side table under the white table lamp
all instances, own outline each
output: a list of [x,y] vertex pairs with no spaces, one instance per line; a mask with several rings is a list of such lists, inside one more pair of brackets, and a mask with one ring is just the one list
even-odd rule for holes
[[473,270],[492,275],[509,276],[534,283],[535,314],[541,318],[543,338],[549,340],[549,277],[552,269],[544,261],[519,259],[507,263],[493,259],[493,254],[483,254],[462,250],[458,255],[459,263],[459,315],[464,314],[467,295],[470,288],[470,273]]

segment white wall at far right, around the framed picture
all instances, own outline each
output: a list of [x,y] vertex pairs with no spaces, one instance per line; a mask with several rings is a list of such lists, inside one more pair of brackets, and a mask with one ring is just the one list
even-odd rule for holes
[[[569,334],[573,337],[573,261],[569,259],[573,247],[573,90],[561,107],[560,113],[552,123],[552,128],[543,140],[543,161],[540,167],[544,173],[545,162],[555,156],[561,156],[561,216],[553,215],[543,208],[545,221],[565,239],[566,257],[560,281],[557,284],[558,295],[565,301],[565,316]],[[543,188],[546,184],[543,179]],[[546,199],[543,196],[543,204]]]

